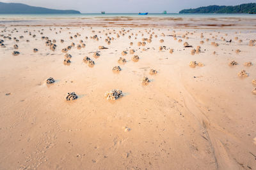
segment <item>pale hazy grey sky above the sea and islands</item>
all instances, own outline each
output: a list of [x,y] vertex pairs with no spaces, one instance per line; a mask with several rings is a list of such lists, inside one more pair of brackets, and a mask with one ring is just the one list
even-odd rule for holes
[[0,0],[3,3],[24,3],[56,10],[78,10],[81,13],[178,13],[200,6],[256,3],[256,0]]

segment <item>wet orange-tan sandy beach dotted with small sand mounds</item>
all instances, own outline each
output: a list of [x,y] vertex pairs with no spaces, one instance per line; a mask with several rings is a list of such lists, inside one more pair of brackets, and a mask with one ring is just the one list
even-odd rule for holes
[[255,18],[195,20],[1,22],[0,169],[256,169]]

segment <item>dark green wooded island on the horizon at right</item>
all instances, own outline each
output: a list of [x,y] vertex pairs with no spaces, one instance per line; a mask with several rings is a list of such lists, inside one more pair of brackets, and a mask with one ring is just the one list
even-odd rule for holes
[[256,13],[256,3],[240,4],[236,6],[204,6],[195,9],[181,10],[179,13]]

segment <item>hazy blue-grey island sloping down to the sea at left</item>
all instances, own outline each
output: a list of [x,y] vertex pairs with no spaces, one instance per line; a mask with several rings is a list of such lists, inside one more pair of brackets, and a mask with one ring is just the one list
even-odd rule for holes
[[76,10],[52,10],[48,8],[29,6],[20,3],[0,3],[1,14],[43,14],[43,13],[80,13]]

